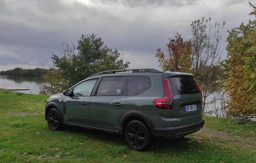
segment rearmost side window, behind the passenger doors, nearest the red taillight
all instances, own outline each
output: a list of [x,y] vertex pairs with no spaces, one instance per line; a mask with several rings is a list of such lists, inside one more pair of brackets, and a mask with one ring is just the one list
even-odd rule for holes
[[127,95],[134,96],[151,88],[151,79],[146,76],[127,76]]

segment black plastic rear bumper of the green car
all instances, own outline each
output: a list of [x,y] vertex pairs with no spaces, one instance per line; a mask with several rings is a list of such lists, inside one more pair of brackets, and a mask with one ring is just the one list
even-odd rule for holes
[[152,135],[153,137],[166,137],[166,135],[168,135],[167,137],[178,138],[200,130],[203,125],[204,120],[201,119],[193,123],[176,127],[155,127],[152,130]]

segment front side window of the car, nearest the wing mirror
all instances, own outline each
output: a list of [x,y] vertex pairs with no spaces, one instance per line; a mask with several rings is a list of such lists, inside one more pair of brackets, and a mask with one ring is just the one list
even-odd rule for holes
[[90,96],[92,89],[98,79],[84,81],[83,83],[77,85],[73,89],[74,96]]

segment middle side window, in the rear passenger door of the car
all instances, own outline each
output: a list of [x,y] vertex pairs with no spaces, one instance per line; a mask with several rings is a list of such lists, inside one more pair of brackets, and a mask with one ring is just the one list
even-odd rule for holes
[[103,77],[97,96],[127,96],[126,77]]

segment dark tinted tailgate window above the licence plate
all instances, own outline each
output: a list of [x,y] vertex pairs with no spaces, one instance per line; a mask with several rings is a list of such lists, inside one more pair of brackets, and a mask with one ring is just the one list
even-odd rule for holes
[[170,77],[173,95],[199,94],[193,77]]

